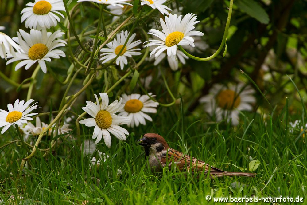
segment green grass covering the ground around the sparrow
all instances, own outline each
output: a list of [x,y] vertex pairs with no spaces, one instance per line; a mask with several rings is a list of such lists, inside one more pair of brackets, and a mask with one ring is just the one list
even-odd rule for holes
[[[307,156],[305,139],[290,133],[284,109],[267,122],[262,116],[244,113],[237,128],[225,122],[216,124],[183,117],[180,106],[159,108],[146,126],[130,129],[125,142],[113,140],[109,149],[98,146],[110,157],[99,166],[90,166],[82,157],[77,140],[65,140],[43,158],[40,152],[28,160],[19,177],[19,164],[26,156],[22,146],[11,144],[0,150],[0,199],[17,204],[207,204],[206,196],[302,196],[306,198]],[[167,115],[162,113],[168,113]],[[290,119],[294,121],[295,119]],[[266,124],[267,125],[266,125]],[[90,138],[82,127],[84,139]],[[163,170],[155,176],[147,167],[141,146],[136,141],[144,133],[165,136],[172,148],[181,150],[225,171],[244,171],[251,160],[259,160],[255,178],[224,177],[200,179],[180,172]],[[73,136],[74,134],[72,134]],[[0,138],[1,144],[17,138],[13,128]],[[50,141],[43,140],[41,146]],[[140,157],[138,157],[140,156]],[[137,158],[138,157],[138,158]],[[117,175],[117,169],[122,170]],[[234,187],[232,183],[240,182]],[[18,197],[24,197],[18,200]],[[16,199],[17,198],[17,199]],[[12,201],[11,201],[12,202]],[[209,204],[213,204],[211,201]],[[305,202],[306,203],[306,202]]]

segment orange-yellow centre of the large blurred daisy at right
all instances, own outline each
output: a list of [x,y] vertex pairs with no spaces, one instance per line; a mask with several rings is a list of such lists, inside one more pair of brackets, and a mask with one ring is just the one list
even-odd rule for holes
[[231,110],[237,108],[241,102],[240,96],[233,90],[222,90],[216,96],[217,104],[220,108]]

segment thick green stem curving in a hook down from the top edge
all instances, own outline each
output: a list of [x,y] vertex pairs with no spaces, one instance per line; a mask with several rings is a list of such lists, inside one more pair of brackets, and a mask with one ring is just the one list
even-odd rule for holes
[[231,19],[231,13],[232,13],[232,5],[233,5],[233,0],[230,0],[230,5],[229,5],[229,11],[228,11],[228,17],[227,17],[227,21],[226,21],[226,26],[225,26],[225,31],[224,31],[224,35],[223,35],[223,39],[221,42],[220,47],[217,49],[217,51],[215,53],[213,53],[211,56],[206,57],[206,58],[200,58],[200,57],[195,57],[191,54],[189,54],[188,52],[185,51],[185,49],[183,49],[180,45],[178,46],[178,48],[189,58],[192,58],[196,61],[209,61],[213,58],[215,58],[223,49],[225,42],[226,42],[226,38],[227,38],[227,34],[228,34],[228,29],[229,29],[229,24],[230,24],[230,19]]

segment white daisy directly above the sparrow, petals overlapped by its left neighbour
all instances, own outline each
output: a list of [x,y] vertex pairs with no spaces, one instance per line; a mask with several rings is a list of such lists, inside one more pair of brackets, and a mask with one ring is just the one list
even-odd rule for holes
[[[151,97],[155,97],[152,93],[148,93]],[[139,124],[146,125],[146,120],[153,121],[152,118],[145,114],[147,113],[157,113],[156,107],[159,103],[150,99],[148,95],[131,94],[122,95],[122,102],[125,106],[119,111],[118,115],[129,116],[131,118],[131,123],[128,124],[129,127],[138,127]]]

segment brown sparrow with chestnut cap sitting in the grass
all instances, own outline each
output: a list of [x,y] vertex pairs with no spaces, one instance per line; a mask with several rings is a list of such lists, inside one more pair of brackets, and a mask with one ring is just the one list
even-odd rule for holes
[[165,139],[154,133],[148,133],[138,140],[139,145],[145,148],[145,159],[149,160],[150,168],[153,172],[159,172],[165,166],[171,170],[172,163],[176,164],[180,171],[188,171],[194,174],[207,174],[210,171],[210,178],[222,176],[249,176],[255,177],[256,173],[229,172],[215,168],[204,161],[186,155],[169,147]]

